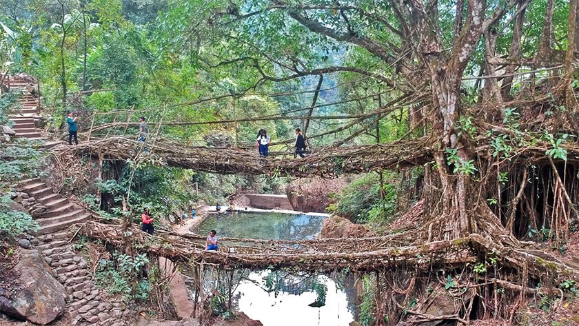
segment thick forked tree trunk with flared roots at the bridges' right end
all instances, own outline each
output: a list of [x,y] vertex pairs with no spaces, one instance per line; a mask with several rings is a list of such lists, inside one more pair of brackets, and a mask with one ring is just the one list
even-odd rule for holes
[[431,216],[430,239],[456,238],[480,230],[494,234],[501,228],[485,198],[476,195],[480,181],[474,181],[476,172],[465,169],[468,165],[475,166],[471,161],[474,155],[455,130],[460,116],[462,76],[484,32],[484,8],[484,0],[468,1],[469,16],[449,59],[441,57],[443,46],[438,36],[429,33],[423,41],[433,102],[438,108],[438,114],[430,122],[440,135],[440,148],[434,154],[436,168],[425,178],[428,179],[425,180],[425,213]]

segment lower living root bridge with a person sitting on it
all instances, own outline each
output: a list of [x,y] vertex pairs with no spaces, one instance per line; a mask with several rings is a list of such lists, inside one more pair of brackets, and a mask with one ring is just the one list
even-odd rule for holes
[[[522,269],[529,276],[551,276],[579,280],[579,271],[568,267],[549,254],[538,256],[532,250],[508,248],[479,234],[449,241],[417,245],[396,244],[396,236],[375,238],[324,238],[309,241],[267,241],[247,238],[220,238],[219,252],[203,250],[204,238],[158,232],[150,236],[132,226],[132,243],[143,252],[151,252],[185,263],[210,264],[225,269],[295,268],[310,272],[380,271],[392,267],[460,266],[472,263],[480,255],[492,253],[502,265]],[[123,244],[119,225],[88,222],[79,230],[89,238],[112,245]]]

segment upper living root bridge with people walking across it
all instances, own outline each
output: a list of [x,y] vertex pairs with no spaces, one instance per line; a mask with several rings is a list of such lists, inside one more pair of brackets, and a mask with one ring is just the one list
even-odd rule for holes
[[[422,165],[431,161],[427,139],[349,147],[322,147],[301,159],[259,157],[256,152],[211,147],[187,147],[169,141],[138,143],[123,137],[94,139],[77,146],[59,145],[55,154],[83,152],[105,159],[144,159],[159,165],[184,167],[219,174],[267,174],[278,176],[334,176],[398,167]],[[289,154],[289,153],[288,153]]]

